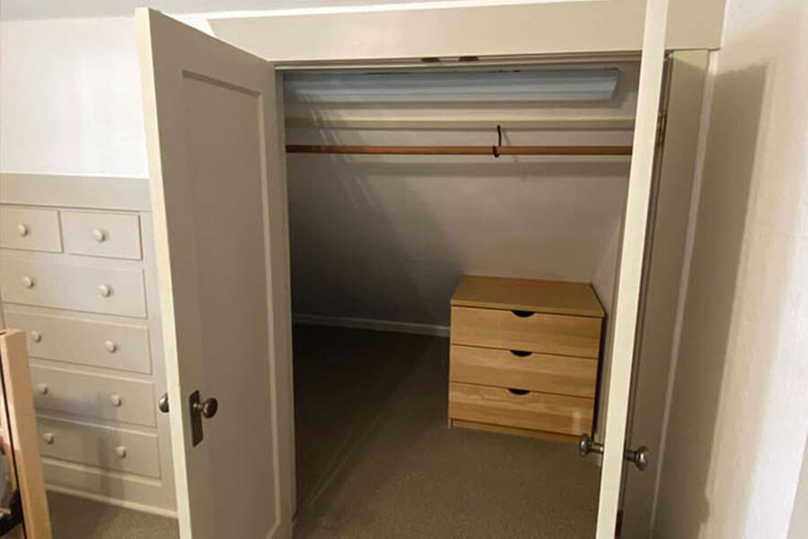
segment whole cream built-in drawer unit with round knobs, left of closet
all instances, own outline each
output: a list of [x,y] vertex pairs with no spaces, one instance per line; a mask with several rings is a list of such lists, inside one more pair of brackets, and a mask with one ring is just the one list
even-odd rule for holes
[[0,172],[0,322],[28,336],[48,488],[170,515],[149,199],[147,178]]

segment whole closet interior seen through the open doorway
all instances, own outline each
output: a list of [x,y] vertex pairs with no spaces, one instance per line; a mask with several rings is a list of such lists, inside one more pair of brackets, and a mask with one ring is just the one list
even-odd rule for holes
[[593,535],[638,61],[469,60],[285,73],[301,536]]

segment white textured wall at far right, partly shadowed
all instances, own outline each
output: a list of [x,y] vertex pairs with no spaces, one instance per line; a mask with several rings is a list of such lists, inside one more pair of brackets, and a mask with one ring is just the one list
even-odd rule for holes
[[800,522],[792,509],[808,434],[806,50],[804,0],[730,0],[658,537],[782,538]]

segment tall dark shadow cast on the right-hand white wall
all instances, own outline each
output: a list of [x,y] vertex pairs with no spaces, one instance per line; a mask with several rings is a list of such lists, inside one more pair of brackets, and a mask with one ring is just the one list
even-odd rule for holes
[[[777,260],[761,260],[766,258],[765,245],[756,246],[757,259],[751,259],[749,253],[743,255],[749,249],[746,243],[754,241],[751,238],[754,231],[747,230],[746,224],[748,214],[753,211],[751,184],[756,170],[755,155],[758,144],[765,140],[767,128],[766,124],[760,125],[766,79],[766,66],[716,75],[654,536],[688,539],[703,536],[700,533],[713,510],[712,466],[717,458],[727,457],[725,452],[716,456],[724,448],[722,444],[732,443],[716,439],[719,420],[746,421],[742,439],[748,445],[742,447],[742,452],[751,456],[744,458],[744,462],[753,463],[760,450],[764,419],[760,409],[766,392],[744,394],[729,402],[732,399],[726,399],[726,379],[737,376],[733,371],[740,369],[754,372],[755,384],[761,388],[767,386],[770,366],[766,361],[755,364],[743,361],[751,356],[751,350],[739,349],[737,333],[777,327],[778,322],[760,321],[757,327],[744,328],[736,319],[739,305],[758,299],[737,296],[739,282],[743,282],[749,266],[760,264],[752,270],[773,270],[777,265]],[[776,289],[766,291],[768,302],[785,294],[786,280],[779,280]],[[742,287],[742,291],[749,294],[748,287]],[[776,340],[776,332],[767,338]],[[760,349],[768,351],[772,348],[770,344],[763,343]],[[732,410],[720,410],[726,406]],[[750,424],[753,421],[744,411],[755,409],[759,412],[752,413],[752,418],[757,415],[760,420]],[[738,488],[727,490],[728,486]],[[729,497],[732,507],[738,509],[732,514],[744,515],[749,491],[742,488],[743,484],[723,487],[723,493],[716,498]],[[741,526],[740,533],[743,523],[725,525]]]

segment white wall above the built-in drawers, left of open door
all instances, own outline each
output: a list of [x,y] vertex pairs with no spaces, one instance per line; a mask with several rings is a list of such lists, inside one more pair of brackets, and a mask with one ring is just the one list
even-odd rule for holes
[[0,24],[0,171],[146,175],[131,18]]

